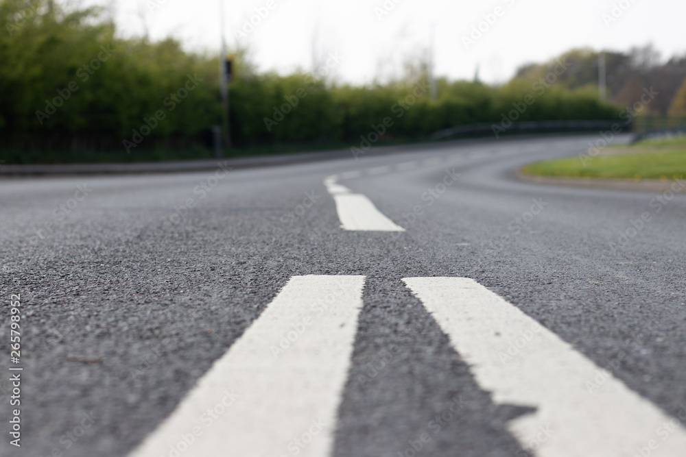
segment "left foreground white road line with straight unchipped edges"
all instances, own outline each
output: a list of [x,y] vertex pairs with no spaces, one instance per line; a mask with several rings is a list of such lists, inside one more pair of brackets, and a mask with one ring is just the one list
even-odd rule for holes
[[[283,456],[296,447],[299,456],[329,455],[363,286],[364,276],[292,277],[132,457],[171,455],[186,438],[182,457]],[[224,391],[238,397],[218,412]]]

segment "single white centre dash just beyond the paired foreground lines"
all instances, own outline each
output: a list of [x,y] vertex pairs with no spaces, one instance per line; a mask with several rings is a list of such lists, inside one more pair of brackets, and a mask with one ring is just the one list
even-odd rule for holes
[[366,232],[405,232],[388,217],[381,214],[374,203],[361,194],[335,194],[338,219],[344,230]]

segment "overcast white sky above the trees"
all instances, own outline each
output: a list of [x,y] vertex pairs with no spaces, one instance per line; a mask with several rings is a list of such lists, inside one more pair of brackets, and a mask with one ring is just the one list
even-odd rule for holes
[[[174,36],[187,49],[218,51],[221,0],[86,0],[113,3],[125,35]],[[228,45],[268,0],[224,0]],[[626,10],[619,9],[620,3]],[[369,82],[399,73],[403,60],[429,47],[435,27],[436,74],[504,82],[525,62],[542,62],[572,47],[626,50],[648,42],[663,58],[686,52],[683,0],[271,0],[273,9],[246,38],[261,70],[311,70],[313,55],[335,52],[337,76]],[[388,8],[384,9],[384,4]],[[612,17],[617,5],[616,21]],[[154,7],[158,5],[158,8]],[[390,8],[393,5],[394,8]],[[501,8],[501,16],[466,49],[463,36]],[[379,18],[381,8],[385,14]],[[264,11],[264,10],[263,10]],[[621,14],[619,14],[621,12]],[[493,16],[490,17],[493,21]],[[314,50],[314,52],[313,52]]]

